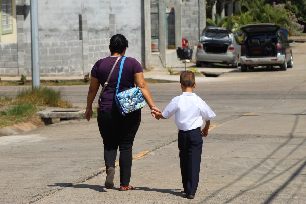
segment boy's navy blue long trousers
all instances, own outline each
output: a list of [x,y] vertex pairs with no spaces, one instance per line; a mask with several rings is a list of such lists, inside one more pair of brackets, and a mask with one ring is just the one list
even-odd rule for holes
[[179,130],[180,166],[184,193],[194,195],[199,183],[203,138],[201,129]]

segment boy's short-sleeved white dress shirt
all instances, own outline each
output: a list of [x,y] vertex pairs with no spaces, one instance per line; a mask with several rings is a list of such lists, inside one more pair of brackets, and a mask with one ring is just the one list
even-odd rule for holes
[[162,115],[169,119],[175,114],[175,124],[179,130],[189,131],[201,127],[205,120],[216,116],[212,109],[195,93],[183,92],[166,106]]

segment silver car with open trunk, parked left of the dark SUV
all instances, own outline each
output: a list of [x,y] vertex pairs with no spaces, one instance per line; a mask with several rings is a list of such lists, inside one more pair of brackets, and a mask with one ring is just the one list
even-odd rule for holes
[[240,49],[234,34],[224,27],[208,26],[203,30],[196,50],[196,66],[203,63],[230,64],[237,68]]

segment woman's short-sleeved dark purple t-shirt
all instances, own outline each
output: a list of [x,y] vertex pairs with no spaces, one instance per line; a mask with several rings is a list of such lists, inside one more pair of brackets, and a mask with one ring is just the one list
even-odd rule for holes
[[[99,79],[100,84],[104,84],[117,58],[118,57],[106,57],[98,60],[91,69],[91,76]],[[113,110],[118,111],[114,98],[116,93],[121,61],[122,57],[117,62],[115,69],[108,82],[108,85],[106,86],[101,96],[101,103],[99,105],[100,111],[113,111]],[[134,74],[140,72],[143,72],[142,67],[135,58],[132,57],[125,58],[118,93],[126,89],[129,89],[131,87],[134,87],[135,86]]]

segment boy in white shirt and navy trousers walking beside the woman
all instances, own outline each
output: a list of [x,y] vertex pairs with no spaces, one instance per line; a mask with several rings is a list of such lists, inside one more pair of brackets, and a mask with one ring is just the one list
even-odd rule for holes
[[[199,183],[203,139],[208,135],[210,120],[216,114],[195,93],[195,76],[192,71],[180,75],[183,94],[176,96],[162,113],[154,112],[156,119],[169,119],[175,114],[175,124],[179,128],[179,156],[182,183],[186,198],[193,199]],[[203,119],[205,127],[201,131]]]

